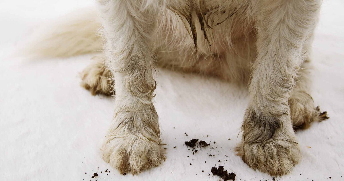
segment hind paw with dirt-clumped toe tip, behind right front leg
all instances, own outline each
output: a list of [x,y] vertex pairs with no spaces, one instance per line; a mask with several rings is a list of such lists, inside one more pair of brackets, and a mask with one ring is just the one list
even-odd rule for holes
[[327,112],[321,112],[314,107],[310,94],[305,91],[295,91],[288,100],[293,127],[307,128],[310,123],[329,119]]

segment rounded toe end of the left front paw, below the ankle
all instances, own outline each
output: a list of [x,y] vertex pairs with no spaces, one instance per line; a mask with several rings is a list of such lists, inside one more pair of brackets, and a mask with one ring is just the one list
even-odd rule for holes
[[158,166],[164,160],[160,143],[137,136],[113,136],[101,149],[103,159],[121,174],[138,174],[143,170]]

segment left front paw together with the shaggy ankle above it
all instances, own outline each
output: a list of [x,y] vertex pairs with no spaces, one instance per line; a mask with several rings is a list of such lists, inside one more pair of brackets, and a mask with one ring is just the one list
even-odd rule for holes
[[103,159],[120,173],[138,174],[158,166],[164,155],[160,147],[158,114],[153,104],[139,111],[117,106],[101,151]]

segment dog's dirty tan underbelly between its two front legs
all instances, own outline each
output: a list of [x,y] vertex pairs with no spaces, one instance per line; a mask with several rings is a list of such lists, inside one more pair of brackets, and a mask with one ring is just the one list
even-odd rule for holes
[[195,23],[196,49],[190,27],[171,11],[163,14],[154,43],[158,66],[230,81],[248,81],[249,65],[256,57],[253,23],[236,16],[212,28]]

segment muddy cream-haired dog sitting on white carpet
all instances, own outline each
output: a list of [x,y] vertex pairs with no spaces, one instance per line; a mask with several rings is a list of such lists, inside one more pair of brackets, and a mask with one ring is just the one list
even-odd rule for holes
[[138,174],[165,158],[152,102],[153,69],[160,66],[249,84],[237,154],[252,169],[283,175],[301,159],[293,128],[328,119],[308,93],[320,6],[321,0],[97,0],[99,14],[68,18],[34,51],[64,57],[101,50],[82,72],[82,86],[116,94],[101,151],[120,173]]

